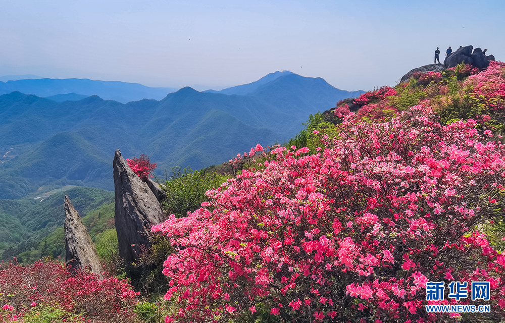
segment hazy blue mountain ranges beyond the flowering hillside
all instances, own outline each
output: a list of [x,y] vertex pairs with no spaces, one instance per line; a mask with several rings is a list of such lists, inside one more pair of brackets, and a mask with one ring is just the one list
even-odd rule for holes
[[[53,81],[65,80],[30,81],[42,81],[33,89],[47,84],[46,93],[55,93],[51,86],[61,82]],[[88,89],[110,84],[85,81]],[[65,95],[83,95],[81,88],[72,90]],[[285,142],[310,114],[360,93],[286,71],[222,91],[185,87],[159,101],[126,104],[96,95],[62,101],[61,93],[48,99],[15,91],[0,96],[0,198],[19,198],[45,184],[113,189],[117,148],[125,157],[145,153],[158,163],[159,175],[175,166],[221,164],[258,143]]]

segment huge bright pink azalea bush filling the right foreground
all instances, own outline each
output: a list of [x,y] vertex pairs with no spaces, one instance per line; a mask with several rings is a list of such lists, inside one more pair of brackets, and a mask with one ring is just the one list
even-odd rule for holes
[[425,114],[376,124],[349,114],[338,138],[317,134],[319,153],[274,149],[261,170],[153,227],[176,248],[165,298],[180,309],[166,321],[260,308],[299,322],[459,316],[425,311],[428,281],[489,281],[491,313],[465,315],[503,317],[505,257],[478,228],[501,213],[505,147],[473,120],[443,126]]

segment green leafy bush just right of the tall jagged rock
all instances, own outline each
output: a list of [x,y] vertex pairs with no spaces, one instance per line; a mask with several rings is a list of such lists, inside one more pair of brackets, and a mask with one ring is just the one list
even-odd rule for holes
[[219,187],[226,181],[226,177],[215,172],[193,171],[190,168],[173,168],[172,177],[165,182],[164,211],[175,214],[176,217],[185,217],[200,207],[202,202],[208,200],[205,192],[211,188]]

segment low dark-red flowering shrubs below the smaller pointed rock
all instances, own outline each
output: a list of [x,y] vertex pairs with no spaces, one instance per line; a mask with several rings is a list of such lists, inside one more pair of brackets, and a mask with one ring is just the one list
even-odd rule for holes
[[124,280],[77,272],[72,275],[61,263],[37,261],[0,268],[0,322],[22,318],[36,306],[83,314],[86,321],[128,322],[137,293]]

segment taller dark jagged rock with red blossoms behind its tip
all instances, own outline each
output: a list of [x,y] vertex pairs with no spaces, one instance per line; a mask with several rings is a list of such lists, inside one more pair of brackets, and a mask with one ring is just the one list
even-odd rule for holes
[[149,246],[151,226],[163,221],[160,202],[149,186],[133,173],[121,151],[114,157],[114,220],[118,233],[119,255],[128,263]]

